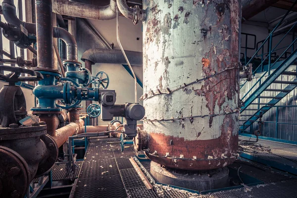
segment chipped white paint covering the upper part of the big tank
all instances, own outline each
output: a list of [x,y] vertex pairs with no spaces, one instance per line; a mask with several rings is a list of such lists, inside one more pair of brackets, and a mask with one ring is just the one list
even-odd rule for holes
[[[172,6],[168,6],[167,1],[143,1],[144,9],[148,10],[147,20],[143,23],[144,93],[150,91],[157,93],[157,89],[166,92],[166,88],[174,89],[184,83],[205,77],[202,58],[207,53],[215,54],[221,61],[230,56],[228,53],[222,53],[222,48],[230,48],[232,40],[229,9],[225,8],[224,17],[218,22],[219,19],[203,19],[205,10],[213,13],[213,17],[217,17],[218,3],[209,0],[203,4],[199,1],[196,4],[193,4],[194,1],[169,1]],[[223,0],[216,1],[224,3]],[[183,11],[179,11],[181,6]],[[201,31],[201,24],[204,21],[207,24],[206,35]],[[210,26],[216,31],[211,32]],[[231,64],[231,61],[227,61],[227,64],[229,63]],[[203,85],[204,82],[196,83],[170,95],[145,99],[146,117],[161,120],[210,114],[207,99],[198,96],[194,91],[201,89]],[[234,93],[232,99],[225,97],[221,107],[218,104],[214,106],[214,114],[224,114],[238,107],[238,93]],[[227,106],[229,109],[225,108]],[[224,117],[225,115],[213,117],[211,124],[209,124],[210,117],[206,116],[194,118],[193,123],[189,119],[144,122],[144,127],[148,134],[154,132],[183,137],[185,140],[212,140],[221,136],[220,127],[224,124]],[[237,114],[232,114],[232,117],[233,120],[238,119]],[[232,130],[233,135],[237,134],[238,127],[236,122]]]

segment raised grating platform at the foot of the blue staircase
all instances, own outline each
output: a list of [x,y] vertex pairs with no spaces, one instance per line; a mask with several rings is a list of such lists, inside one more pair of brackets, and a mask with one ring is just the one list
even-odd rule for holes
[[297,145],[260,139],[257,143],[249,143],[249,139],[255,139],[244,136],[239,136],[239,139],[239,146],[243,148],[244,153],[297,168]]

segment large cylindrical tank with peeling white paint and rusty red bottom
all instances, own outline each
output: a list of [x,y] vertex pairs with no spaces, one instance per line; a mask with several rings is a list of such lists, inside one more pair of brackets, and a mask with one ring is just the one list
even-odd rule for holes
[[146,155],[210,170],[237,157],[240,0],[144,0]]

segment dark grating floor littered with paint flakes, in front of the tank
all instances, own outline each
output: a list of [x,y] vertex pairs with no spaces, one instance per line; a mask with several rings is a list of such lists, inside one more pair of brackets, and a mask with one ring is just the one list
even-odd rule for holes
[[[152,184],[148,190],[137,174],[129,158],[133,148],[121,152],[120,146],[108,144],[117,138],[91,139],[76,185],[74,198],[296,198],[297,179],[274,171],[258,163],[237,160],[232,166],[252,177],[264,181],[264,185],[250,189],[240,188],[198,195],[169,186]],[[148,164],[144,164],[146,168]],[[146,172],[145,172],[146,175]]]

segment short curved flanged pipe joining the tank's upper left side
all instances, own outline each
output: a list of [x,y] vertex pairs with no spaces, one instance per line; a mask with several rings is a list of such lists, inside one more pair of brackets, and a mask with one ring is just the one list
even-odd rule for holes
[[120,12],[128,19],[131,19],[134,24],[140,21],[144,21],[147,17],[146,11],[140,9],[139,5],[135,5],[134,8],[127,5],[126,0],[116,0],[117,6]]

